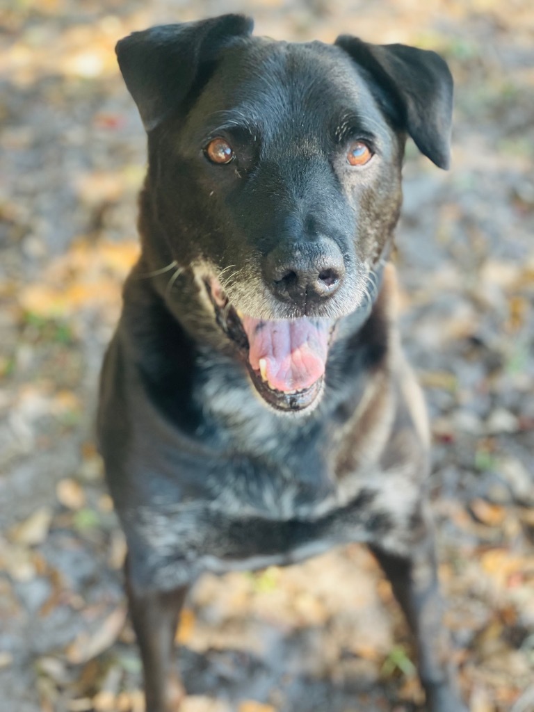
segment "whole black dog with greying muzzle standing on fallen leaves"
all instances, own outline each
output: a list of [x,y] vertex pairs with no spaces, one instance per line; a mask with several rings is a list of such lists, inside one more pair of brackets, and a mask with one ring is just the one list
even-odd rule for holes
[[174,631],[201,572],[362,541],[414,630],[427,708],[461,712],[387,264],[406,135],[448,166],[451,75],[403,45],[251,27],[229,15],[117,46],[149,166],[99,432],[147,711],[179,705]]

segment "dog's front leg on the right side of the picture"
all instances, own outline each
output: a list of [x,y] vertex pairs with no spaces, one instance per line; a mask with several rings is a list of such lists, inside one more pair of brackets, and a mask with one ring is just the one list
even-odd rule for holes
[[417,643],[419,676],[428,712],[467,712],[450,664],[449,635],[442,621],[434,538],[431,528],[405,557],[372,547],[392,584]]

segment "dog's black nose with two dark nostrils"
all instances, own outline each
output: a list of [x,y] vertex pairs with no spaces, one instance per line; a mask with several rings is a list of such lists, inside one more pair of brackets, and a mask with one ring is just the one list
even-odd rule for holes
[[266,261],[266,278],[273,293],[302,306],[333,296],[344,276],[340,251],[317,242],[278,248]]

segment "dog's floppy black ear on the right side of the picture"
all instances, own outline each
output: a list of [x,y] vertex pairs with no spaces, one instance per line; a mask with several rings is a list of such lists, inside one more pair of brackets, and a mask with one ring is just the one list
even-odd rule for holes
[[341,35],[335,44],[365,68],[393,100],[397,120],[436,166],[449,168],[453,80],[435,52],[375,45]]

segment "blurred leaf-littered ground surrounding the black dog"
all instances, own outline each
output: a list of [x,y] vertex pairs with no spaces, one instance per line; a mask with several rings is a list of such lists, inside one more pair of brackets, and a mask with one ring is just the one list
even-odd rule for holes
[[[137,255],[145,135],[117,39],[245,11],[256,32],[434,48],[453,164],[410,142],[404,345],[433,418],[431,492],[473,712],[534,710],[531,0],[11,0],[0,6],[0,710],[140,712],[122,535],[95,452],[98,370]],[[422,711],[372,557],[204,577],[177,635],[184,712]]]

